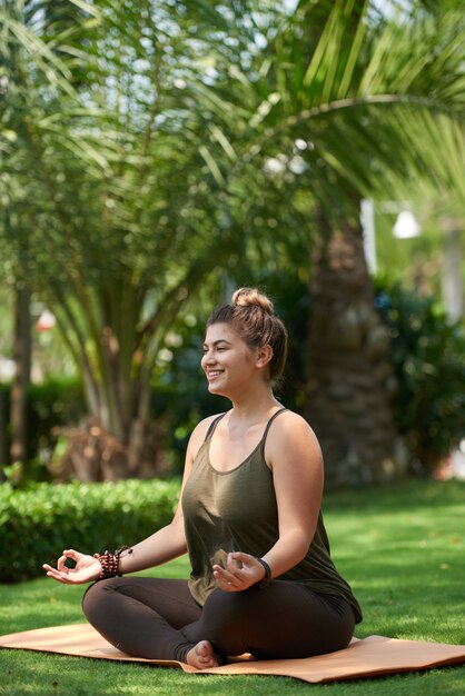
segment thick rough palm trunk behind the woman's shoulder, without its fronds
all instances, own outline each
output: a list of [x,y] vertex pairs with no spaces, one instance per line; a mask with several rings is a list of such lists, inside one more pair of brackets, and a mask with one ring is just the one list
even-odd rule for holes
[[394,478],[395,380],[388,335],[374,306],[362,229],[344,222],[314,251],[306,416],[321,444],[329,487]]

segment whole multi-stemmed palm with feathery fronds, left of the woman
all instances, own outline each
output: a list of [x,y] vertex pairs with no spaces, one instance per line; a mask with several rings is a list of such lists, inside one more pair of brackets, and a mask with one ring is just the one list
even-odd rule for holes
[[82,375],[90,419],[68,432],[67,460],[85,479],[151,476],[164,337],[240,247],[196,74],[199,42],[220,46],[225,20],[202,3],[185,19],[150,0],[59,9],[7,2],[0,14],[11,140],[2,232]]

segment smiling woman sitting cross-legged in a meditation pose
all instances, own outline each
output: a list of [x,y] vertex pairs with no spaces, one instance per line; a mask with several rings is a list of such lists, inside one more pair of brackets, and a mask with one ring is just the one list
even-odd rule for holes
[[[210,316],[201,359],[233,407],[195,428],[171,524],[115,555],[69,549],[43,566],[61,583],[99,580],[83,612],[122,652],[199,669],[243,653],[308,657],[346,647],[362,620],[329,556],[318,441],[273,394],[286,351],[268,298],[237,290]],[[189,580],[127,577],[186,551]]]

